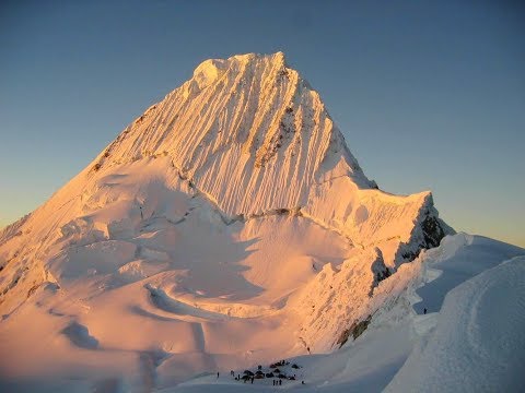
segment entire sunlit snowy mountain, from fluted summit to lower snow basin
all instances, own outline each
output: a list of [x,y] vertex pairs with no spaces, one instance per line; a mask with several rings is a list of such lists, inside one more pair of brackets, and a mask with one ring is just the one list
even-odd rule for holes
[[207,60],[0,233],[3,371],[52,350],[57,378],[159,388],[331,350],[447,233],[430,192],[365,177],[282,52]]

